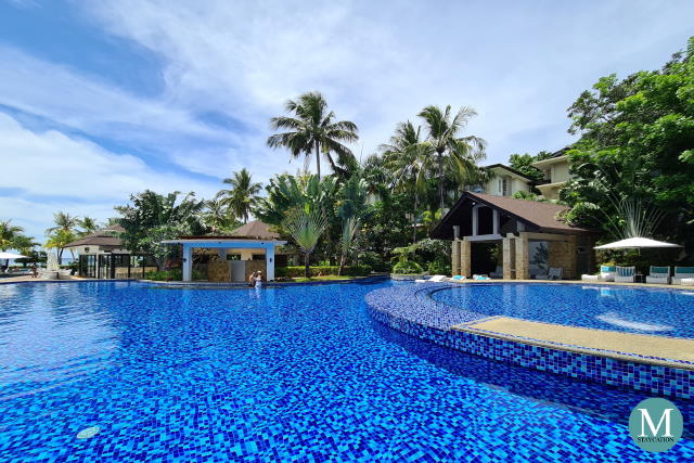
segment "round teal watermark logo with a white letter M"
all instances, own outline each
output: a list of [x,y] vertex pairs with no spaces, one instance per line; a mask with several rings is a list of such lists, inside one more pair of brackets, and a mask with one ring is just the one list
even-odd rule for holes
[[650,452],[669,450],[682,437],[682,413],[669,400],[643,400],[631,411],[629,434],[637,446]]

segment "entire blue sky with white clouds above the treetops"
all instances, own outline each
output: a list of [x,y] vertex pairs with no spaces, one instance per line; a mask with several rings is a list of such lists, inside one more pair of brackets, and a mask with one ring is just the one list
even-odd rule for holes
[[692,17],[686,0],[0,0],[0,218],[42,241],[56,210],[105,220],[145,188],[294,172],[268,119],[308,90],[358,124],[358,156],[428,104],[477,110],[489,164],[557,150],[582,90],[661,66]]

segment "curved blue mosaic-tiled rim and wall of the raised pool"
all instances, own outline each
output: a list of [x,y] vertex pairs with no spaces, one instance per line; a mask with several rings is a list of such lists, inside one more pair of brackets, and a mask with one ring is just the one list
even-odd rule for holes
[[437,303],[428,295],[440,284],[398,285],[367,295],[372,317],[408,335],[497,361],[657,396],[694,398],[694,371],[646,362],[590,356],[545,346],[451,330],[488,318]]

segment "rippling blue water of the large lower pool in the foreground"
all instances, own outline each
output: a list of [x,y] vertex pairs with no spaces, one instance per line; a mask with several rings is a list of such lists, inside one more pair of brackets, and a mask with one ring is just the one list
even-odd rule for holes
[[386,329],[391,284],[0,285],[0,461],[694,459],[692,402],[647,453],[643,395]]

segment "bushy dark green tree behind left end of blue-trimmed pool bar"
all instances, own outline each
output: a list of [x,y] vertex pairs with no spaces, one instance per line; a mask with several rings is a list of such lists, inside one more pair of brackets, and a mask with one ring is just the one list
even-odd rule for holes
[[165,196],[145,190],[130,195],[130,204],[115,208],[120,214],[118,223],[125,229],[120,235],[124,246],[152,254],[159,269],[172,250],[163,241],[205,232],[201,220],[204,201],[196,200],[194,193],[180,200],[179,195],[178,191]]

